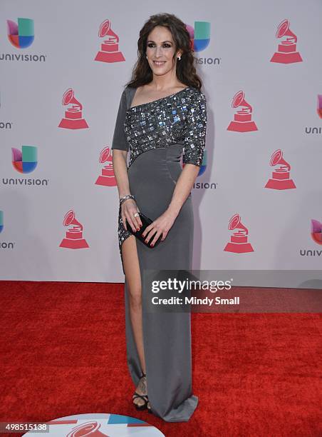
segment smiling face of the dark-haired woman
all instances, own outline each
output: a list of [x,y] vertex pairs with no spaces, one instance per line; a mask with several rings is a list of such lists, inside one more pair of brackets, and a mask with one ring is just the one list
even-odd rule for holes
[[181,55],[177,51],[175,59],[175,41],[167,27],[156,26],[147,36],[147,61],[153,74],[162,76],[172,69],[175,69],[177,56]]

